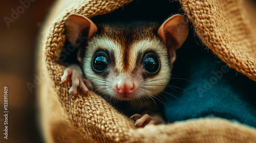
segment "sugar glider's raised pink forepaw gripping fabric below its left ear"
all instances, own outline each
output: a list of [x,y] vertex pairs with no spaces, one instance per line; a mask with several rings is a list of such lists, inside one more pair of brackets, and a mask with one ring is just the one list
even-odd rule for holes
[[83,94],[87,94],[88,90],[92,88],[89,80],[83,78],[82,71],[78,65],[71,65],[67,67],[61,77],[61,82],[72,81],[72,87],[69,90],[71,97],[77,94],[77,87],[80,88]]

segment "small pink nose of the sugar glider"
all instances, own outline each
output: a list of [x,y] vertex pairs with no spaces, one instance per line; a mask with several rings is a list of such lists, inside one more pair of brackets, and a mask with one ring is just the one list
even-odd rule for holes
[[133,93],[135,91],[135,85],[132,81],[124,81],[116,84],[118,93]]

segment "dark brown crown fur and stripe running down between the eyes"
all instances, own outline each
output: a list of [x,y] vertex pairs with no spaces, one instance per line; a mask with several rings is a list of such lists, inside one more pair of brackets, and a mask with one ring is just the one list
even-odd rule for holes
[[117,41],[123,50],[123,71],[131,72],[131,45],[141,40],[155,40],[158,39],[156,35],[159,27],[158,23],[149,23],[148,25],[134,24],[97,24],[99,31],[96,37],[108,37]]

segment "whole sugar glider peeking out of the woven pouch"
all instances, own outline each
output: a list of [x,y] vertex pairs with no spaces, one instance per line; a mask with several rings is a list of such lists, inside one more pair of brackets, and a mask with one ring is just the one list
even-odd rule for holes
[[[68,66],[61,78],[61,82],[72,81],[70,95],[76,95],[77,88],[83,94],[93,88],[108,100],[140,101],[141,104],[146,98],[154,100],[165,89],[176,50],[186,40],[189,29],[186,18],[179,14],[162,24],[95,24],[87,17],[71,14],[65,27],[67,40],[79,49],[80,66]],[[157,114],[134,113],[131,118],[137,127],[163,122]]]

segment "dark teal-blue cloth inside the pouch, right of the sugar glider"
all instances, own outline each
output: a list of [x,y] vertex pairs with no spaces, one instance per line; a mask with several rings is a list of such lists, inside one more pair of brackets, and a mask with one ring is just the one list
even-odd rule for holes
[[254,81],[229,69],[206,50],[185,48],[178,50],[177,55],[169,83],[175,87],[166,88],[165,92],[178,99],[164,94],[168,98],[164,101],[168,123],[213,116],[256,127]]

